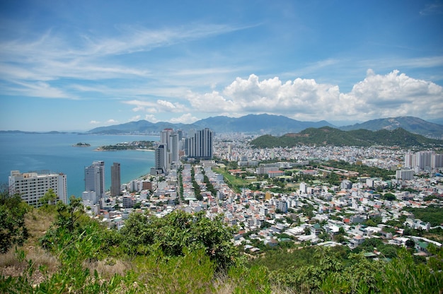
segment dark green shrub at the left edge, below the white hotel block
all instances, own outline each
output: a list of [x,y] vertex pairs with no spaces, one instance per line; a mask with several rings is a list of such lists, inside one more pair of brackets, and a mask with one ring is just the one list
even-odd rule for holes
[[25,213],[28,205],[20,195],[9,195],[7,188],[0,192],[0,253],[8,252],[13,245],[23,245],[28,239]]

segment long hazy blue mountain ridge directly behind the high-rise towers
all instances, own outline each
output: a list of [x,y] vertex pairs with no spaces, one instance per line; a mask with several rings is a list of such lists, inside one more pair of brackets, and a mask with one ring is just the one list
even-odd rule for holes
[[191,129],[209,128],[216,133],[247,133],[247,134],[286,134],[297,132],[309,127],[333,127],[326,121],[321,122],[300,122],[295,119],[289,119],[282,115],[271,114],[248,114],[244,117],[208,117],[201,119],[193,124],[171,124],[168,122],[152,123],[146,120],[138,122],[128,122],[126,124],[116,124],[109,127],[98,127],[88,131],[90,134],[159,134],[165,128],[182,129],[190,131]]

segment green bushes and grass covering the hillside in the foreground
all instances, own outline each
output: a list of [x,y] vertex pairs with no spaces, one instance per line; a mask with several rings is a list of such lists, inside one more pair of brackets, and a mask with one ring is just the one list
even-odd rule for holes
[[[20,201],[1,202],[1,213]],[[2,218],[2,234],[5,232]],[[443,250],[415,259],[398,249],[371,260],[347,247],[240,254],[234,229],[203,213],[132,213],[121,230],[88,218],[79,199],[25,208],[30,228],[0,260],[1,293],[442,293]],[[43,225],[38,225],[42,223]],[[3,235],[1,236],[3,237]],[[25,240],[27,240],[25,242]],[[3,245],[3,244],[2,244]],[[23,245],[23,246],[21,246]],[[373,250],[378,244],[367,244]],[[383,256],[381,256],[383,257]],[[6,264],[8,261],[8,264]],[[11,267],[18,274],[6,274]]]

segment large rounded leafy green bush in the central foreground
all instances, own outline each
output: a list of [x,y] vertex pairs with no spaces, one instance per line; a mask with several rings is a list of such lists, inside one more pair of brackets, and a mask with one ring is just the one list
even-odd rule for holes
[[154,245],[166,256],[203,249],[220,268],[236,260],[237,250],[231,242],[234,229],[220,217],[210,220],[204,212],[173,211],[163,218],[132,213],[120,233],[130,254],[148,254]]

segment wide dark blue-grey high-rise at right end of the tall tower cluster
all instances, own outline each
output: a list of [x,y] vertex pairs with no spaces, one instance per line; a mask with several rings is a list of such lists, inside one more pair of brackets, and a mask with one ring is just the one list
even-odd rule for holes
[[187,139],[186,148],[190,158],[212,159],[212,131],[208,128],[196,131]]

